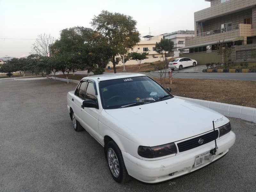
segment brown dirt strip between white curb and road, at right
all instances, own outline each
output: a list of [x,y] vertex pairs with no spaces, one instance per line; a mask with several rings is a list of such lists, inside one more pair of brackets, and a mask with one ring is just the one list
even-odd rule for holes
[[256,108],[256,81],[174,78],[172,83],[166,78],[164,87],[173,95]]

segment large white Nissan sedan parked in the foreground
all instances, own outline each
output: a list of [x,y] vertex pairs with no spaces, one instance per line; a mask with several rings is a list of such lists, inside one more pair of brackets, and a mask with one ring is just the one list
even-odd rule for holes
[[84,77],[68,92],[75,131],[85,129],[104,147],[117,182],[170,180],[220,159],[234,144],[228,118],[170,91],[146,75],[120,73]]

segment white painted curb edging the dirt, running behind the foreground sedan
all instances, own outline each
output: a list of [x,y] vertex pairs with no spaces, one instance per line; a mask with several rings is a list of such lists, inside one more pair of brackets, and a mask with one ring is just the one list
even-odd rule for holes
[[[52,76],[52,79],[54,79],[53,76]],[[56,77],[56,80],[67,82],[67,79],[58,78],[58,77]],[[75,84],[78,84],[80,82],[72,79],[69,79],[68,81]],[[246,121],[251,121],[253,123],[256,123],[256,108],[244,107],[239,105],[231,105],[227,103],[219,103],[214,101],[192,99],[192,98],[180,97],[180,96],[175,96],[175,97],[210,108],[214,111],[221,113],[224,116],[240,118]]]

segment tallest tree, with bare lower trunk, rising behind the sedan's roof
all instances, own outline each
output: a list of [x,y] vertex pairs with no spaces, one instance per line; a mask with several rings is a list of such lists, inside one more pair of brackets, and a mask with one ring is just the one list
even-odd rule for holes
[[129,15],[104,10],[92,19],[92,27],[107,39],[112,54],[114,73],[116,73],[115,56],[125,54],[140,41],[140,33],[136,24],[137,21]]

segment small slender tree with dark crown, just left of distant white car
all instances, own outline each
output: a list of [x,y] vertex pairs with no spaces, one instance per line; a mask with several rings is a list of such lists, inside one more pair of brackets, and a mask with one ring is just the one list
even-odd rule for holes
[[160,75],[160,84],[162,84],[162,76],[164,75],[164,83],[166,77],[166,68],[168,65],[168,60],[166,57],[166,52],[171,52],[173,49],[173,41],[171,39],[161,38],[160,42],[156,42],[156,52],[162,54],[161,58],[163,59],[163,64],[160,61],[159,75]]

